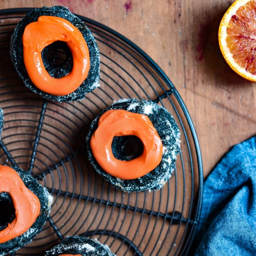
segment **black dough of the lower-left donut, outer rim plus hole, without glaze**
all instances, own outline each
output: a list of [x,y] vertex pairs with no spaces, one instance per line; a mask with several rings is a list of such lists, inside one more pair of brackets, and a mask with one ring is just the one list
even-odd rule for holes
[[[6,255],[16,251],[32,241],[34,236],[42,230],[42,227],[46,223],[53,201],[53,196],[48,193],[47,189],[41,186],[28,172],[23,171],[20,168],[13,169],[20,175],[20,178],[27,189],[32,191],[39,198],[40,215],[37,217],[31,228],[25,233],[5,243],[0,243],[0,255]],[[7,206],[7,208],[3,208],[3,206]],[[5,229],[8,223],[12,222],[14,218],[15,210],[10,195],[5,192],[0,193],[0,230]]]

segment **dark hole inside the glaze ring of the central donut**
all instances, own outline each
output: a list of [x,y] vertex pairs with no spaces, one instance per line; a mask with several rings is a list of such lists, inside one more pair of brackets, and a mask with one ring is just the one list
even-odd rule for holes
[[122,161],[133,160],[141,156],[144,150],[142,141],[133,135],[115,136],[111,147],[115,158]]

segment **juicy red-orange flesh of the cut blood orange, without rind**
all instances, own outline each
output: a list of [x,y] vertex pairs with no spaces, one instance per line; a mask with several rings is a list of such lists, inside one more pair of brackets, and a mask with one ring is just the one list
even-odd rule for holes
[[256,74],[256,1],[249,1],[231,17],[226,42],[234,61]]

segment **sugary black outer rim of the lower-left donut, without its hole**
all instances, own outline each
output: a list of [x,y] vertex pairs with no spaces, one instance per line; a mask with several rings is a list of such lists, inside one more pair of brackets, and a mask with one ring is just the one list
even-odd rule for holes
[[20,249],[25,244],[30,243],[34,236],[41,232],[44,224],[49,216],[53,196],[49,194],[46,188],[41,186],[28,172],[13,168],[19,175],[25,186],[32,191],[40,201],[40,215],[35,220],[34,224],[22,235],[15,237],[6,243],[0,243],[0,253],[5,255],[17,249]]

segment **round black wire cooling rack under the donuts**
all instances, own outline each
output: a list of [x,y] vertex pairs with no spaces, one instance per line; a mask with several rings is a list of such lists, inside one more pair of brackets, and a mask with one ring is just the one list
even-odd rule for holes
[[[54,195],[54,202],[42,232],[12,255],[43,255],[72,235],[97,238],[116,255],[188,254],[202,204],[202,159],[195,128],[174,85],[130,40],[78,15],[101,52],[101,87],[82,101],[43,100],[25,88],[9,56],[13,29],[30,10],[0,10],[0,108],[5,116],[0,164],[29,171]],[[116,190],[88,163],[89,124],[120,98],[154,101],[180,127],[180,155],[161,190]]]

